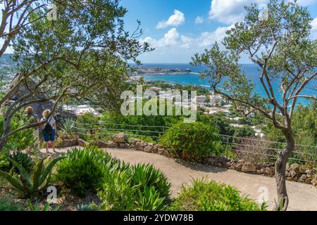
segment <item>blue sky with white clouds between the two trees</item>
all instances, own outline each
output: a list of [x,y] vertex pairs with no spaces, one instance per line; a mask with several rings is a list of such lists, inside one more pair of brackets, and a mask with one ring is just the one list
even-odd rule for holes
[[[156,48],[139,57],[142,63],[189,63],[196,52],[221,41],[235,22],[243,18],[244,5],[256,2],[260,8],[268,0],[122,0],[128,9],[125,27],[135,30],[137,20],[142,23],[147,41]],[[290,0],[292,1],[292,0]],[[313,34],[317,38],[317,0],[299,0],[309,7],[313,20]],[[249,63],[242,57],[242,63]]]

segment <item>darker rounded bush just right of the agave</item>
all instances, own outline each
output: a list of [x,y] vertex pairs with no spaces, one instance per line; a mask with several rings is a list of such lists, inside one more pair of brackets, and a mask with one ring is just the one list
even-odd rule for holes
[[73,148],[57,166],[56,179],[63,181],[71,192],[85,197],[88,191],[96,191],[104,181],[105,166],[110,156],[97,147],[83,150]]

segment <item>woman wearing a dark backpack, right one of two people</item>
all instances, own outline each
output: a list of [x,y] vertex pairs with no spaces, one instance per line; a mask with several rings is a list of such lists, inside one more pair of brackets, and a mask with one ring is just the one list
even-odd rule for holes
[[57,131],[56,120],[54,117],[49,117],[51,110],[44,110],[41,122],[47,121],[46,124],[43,124],[43,136],[46,143],[46,153],[49,153],[49,142],[51,142],[51,148],[55,151],[55,136]]

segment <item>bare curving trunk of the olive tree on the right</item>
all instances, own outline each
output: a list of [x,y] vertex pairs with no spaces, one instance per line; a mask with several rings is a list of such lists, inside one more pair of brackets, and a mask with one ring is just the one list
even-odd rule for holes
[[295,147],[294,138],[290,133],[292,132],[288,132],[288,134],[285,135],[287,140],[286,149],[280,153],[278,160],[275,162],[275,181],[278,191],[275,211],[286,211],[289,203],[286,190],[286,165]]

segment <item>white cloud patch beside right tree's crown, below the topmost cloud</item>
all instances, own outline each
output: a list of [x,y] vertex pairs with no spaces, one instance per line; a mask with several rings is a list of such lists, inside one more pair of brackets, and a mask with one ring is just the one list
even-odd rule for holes
[[234,27],[234,25],[230,25],[229,27],[218,27],[213,32],[202,32],[198,38],[199,46],[211,46],[216,41],[222,41],[225,38],[225,32],[232,27]]

